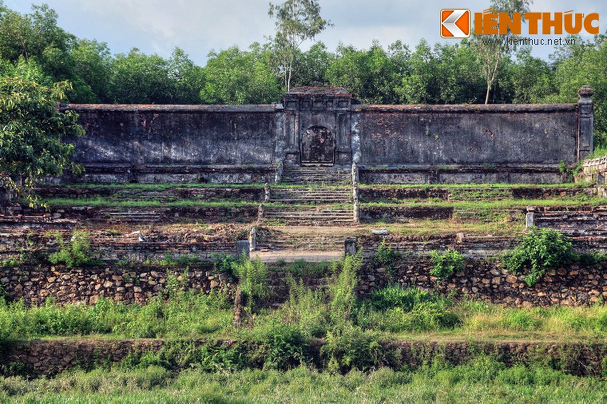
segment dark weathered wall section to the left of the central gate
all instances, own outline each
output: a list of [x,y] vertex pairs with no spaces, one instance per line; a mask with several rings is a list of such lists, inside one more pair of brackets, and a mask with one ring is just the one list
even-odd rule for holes
[[273,106],[75,105],[80,163],[272,164]]

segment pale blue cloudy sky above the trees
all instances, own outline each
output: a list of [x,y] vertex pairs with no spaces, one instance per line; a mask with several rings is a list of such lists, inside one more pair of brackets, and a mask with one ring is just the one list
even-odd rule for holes
[[[274,21],[268,16],[268,0],[4,0],[5,6],[21,13],[30,12],[32,3],[42,2],[59,14],[58,25],[64,30],[79,38],[107,42],[112,53],[128,53],[137,47],[141,52],[168,58],[175,47],[180,47],[200,66],[205,65],[211,50],[232,45],[246,49],[253,42],[265,42],[274,31]],[[334,26],[316,40],[334,51],[340,42],[368,49],[374,40],[384,48],[400,40],[415,49],[422,38],[430,44],[458,41],[440,37],[440,10],[469,8],[472,13],[482,12],[490,2],[319,0],[319,4],[321,15]],[[572,9],[575,13],[599,13],[600,33],[607,31],[605,1],[535,0],[531,5],[532,12]],[[302,48],[307,49],[311,43]],[[546,60],[553,51],[551,45],[532,47],[532,55]]]

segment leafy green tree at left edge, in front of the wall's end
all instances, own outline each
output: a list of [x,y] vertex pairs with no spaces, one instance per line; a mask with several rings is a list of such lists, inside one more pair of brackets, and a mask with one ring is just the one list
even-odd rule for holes
[[38,204],[32,192],[37,181],[60,177],[64,169],[82,170],[70,158],[73,144],[63,139],[83,135],[84,129],[77,123],[78,115],[56,109],[70,87],[68,82],[47,87],[21,78],[0,78],[0,181],[30,206]]

